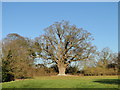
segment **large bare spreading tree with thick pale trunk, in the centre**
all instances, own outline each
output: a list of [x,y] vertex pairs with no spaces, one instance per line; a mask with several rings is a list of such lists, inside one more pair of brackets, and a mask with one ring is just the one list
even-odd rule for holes
[[45,34],[36,38],[42,52],[40,57],[58,66],[59,74],[65,75],[67,66],[73,61],[89,60],[94,56],[91,34],[69,24],[55,22],[45,29]]

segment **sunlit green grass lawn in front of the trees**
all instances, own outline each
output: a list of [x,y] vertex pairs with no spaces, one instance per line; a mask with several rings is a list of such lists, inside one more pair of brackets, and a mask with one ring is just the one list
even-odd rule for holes
[[118,88],[118,76],[41,76],[2,83],[2,88]]

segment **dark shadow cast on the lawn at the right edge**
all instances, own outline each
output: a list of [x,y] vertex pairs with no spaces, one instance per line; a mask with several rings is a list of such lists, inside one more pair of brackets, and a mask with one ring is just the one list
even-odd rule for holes
[[100,79],[97,81],[93,81],[97,83],[104,83],[104,84],[120,84],[120,79]]

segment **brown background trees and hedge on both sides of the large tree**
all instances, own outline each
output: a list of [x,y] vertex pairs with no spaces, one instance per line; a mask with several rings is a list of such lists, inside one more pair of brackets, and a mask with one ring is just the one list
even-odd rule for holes
[[[57,65],[51,64],[48,68],[46,63],[36,64],[37,51],[40,52],[41,48],[34,40],[18,34],[8,34],[2,41],[2,81],[57,75],[59,73]],[[81,61],[75,65],[70,64],[66,69],[66,74],[118,75],[118,54],[111,52],[109,48],[97,52],[95,60],[91,61],[82,61],[85,62],[82,65]]]

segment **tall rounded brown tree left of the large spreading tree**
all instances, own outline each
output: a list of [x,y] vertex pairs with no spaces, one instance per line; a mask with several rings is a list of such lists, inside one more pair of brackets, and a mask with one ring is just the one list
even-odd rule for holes
[[2,43],[3,71],[19,78],[31,75],[29,70],[31,70],[35,57],[31,41],[12,33],[8,34]]

